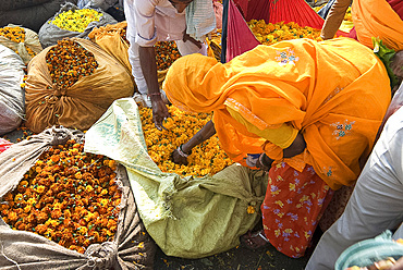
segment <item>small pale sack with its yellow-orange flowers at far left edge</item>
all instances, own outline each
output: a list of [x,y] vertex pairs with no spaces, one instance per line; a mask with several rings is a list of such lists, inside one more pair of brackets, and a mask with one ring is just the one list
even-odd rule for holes
[[35,32],[12,24],[0,28],[0,44],[15,51],[24,64],[42,50]]

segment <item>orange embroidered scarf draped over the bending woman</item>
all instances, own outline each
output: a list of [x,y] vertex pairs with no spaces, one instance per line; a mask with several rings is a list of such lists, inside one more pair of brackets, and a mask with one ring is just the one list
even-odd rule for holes
[[[349,38],[257,46],[225,64],[186,56],[169,69],[163,88],[180,109],[213,111],[220,144],[237,162],[261,152],[265,140],[227,106],[260,130],[292,124],[307,148],[285,161],[297,170],[312,164],[333,189],[356,180],[358,158],[369,154],[391,98],[383,64]],[[270,143],[265,149],[269,156],[278,150]]]

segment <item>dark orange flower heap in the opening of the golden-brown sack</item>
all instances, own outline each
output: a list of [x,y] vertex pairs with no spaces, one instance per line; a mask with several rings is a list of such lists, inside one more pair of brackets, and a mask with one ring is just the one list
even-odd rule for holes
[[70,39],[59,40],[58,45],[46,53],[46,63],[52,83],[59,88],[71,87],[98,68],[93,52]]

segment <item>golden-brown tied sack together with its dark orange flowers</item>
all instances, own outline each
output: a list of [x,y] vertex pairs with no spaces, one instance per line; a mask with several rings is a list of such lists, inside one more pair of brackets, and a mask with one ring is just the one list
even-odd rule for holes
[[131,75],[90,40],[72,38],[42,50],[28,64],[26,126],[89,128],[113,100],[133,96]]

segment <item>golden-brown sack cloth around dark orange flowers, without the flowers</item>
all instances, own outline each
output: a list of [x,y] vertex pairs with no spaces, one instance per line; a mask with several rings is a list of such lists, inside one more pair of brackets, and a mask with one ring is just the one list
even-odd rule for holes
[[26,126],[35,133],[52,125],[88,130],[115,100],[132,97],[130,73],[113,57],[94,42],[72,38],[94,53],[99,66],[68,89],[56,89],[42,50],[30,60],[26,81]]

